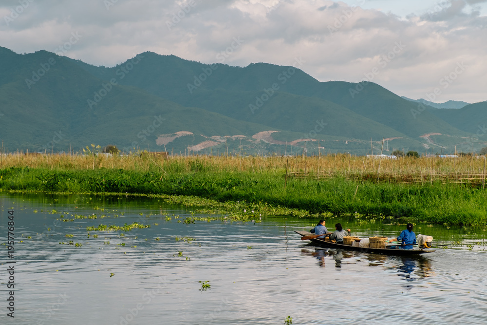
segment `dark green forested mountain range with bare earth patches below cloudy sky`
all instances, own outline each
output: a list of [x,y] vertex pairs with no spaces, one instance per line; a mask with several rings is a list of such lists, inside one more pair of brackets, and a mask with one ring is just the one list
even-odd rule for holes
[[[487,102],[437,109],[295,66],[203,64],[145,52],[96,67],[0,47],[5,151],[90,144],[175,153],[453,153],[486,146]],[[485,136],[487,138],[487,136]],[[382,144],[384,140],[384,144]]]

